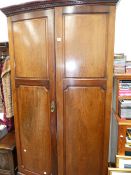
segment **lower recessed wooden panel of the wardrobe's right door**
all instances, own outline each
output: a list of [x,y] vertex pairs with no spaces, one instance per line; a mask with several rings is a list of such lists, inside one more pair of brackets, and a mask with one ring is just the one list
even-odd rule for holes
[[102,174],[104,107],[105,92],[99,87],[64,91],[65,174]]

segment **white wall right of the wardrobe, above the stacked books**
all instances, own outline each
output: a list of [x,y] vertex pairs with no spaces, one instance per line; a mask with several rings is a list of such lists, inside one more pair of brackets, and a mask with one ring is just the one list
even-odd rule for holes
[[121,0],[116,10],[115,53],[131,60],[131,0]]

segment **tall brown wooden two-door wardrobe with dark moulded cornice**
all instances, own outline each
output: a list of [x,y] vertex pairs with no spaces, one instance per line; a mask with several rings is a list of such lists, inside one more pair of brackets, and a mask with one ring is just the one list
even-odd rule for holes
[[117,0],[42,0],[8,16],[18,174],[107,175]]

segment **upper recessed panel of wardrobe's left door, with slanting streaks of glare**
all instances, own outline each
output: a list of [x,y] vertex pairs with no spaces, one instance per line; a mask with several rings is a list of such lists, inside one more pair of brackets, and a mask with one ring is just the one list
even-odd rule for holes
[[13,23],[16,77],[48,77],[47,19]]

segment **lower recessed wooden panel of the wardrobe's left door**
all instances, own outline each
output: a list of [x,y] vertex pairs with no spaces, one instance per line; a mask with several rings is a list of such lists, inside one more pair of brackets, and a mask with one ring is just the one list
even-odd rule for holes
[[44,87],[17,90],[22,166],[35,173],[51,173],[49,92]]

